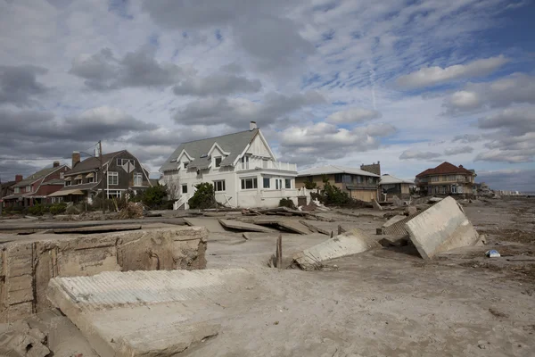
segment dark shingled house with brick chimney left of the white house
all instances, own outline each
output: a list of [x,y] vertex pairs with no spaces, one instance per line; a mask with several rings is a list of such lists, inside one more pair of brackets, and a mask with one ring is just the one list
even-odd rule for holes
[[[64,187],[49,197],[58,201],[92,203],[99,192],[107,198],[122,197],[127,191],[152,187],[149,171],[127,150],[103,154],[102,159],[103,173],[100,172],[100,157],[81,161],[80,153],[72,153],[72,169],[65,172]],[[103,180],[103,176],[106,179]]]

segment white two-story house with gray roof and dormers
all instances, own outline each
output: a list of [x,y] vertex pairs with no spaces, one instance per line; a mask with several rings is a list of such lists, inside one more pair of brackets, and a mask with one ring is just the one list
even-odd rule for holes
[[276,207],[281,198],[307,203],[304,190],[295,188],[297,166],[276,160],[254,121],[247,131],[179,145],[160,170],[178,199],[175,209],[189,208],[202,182],[213,184],[216,200],[227,207]]

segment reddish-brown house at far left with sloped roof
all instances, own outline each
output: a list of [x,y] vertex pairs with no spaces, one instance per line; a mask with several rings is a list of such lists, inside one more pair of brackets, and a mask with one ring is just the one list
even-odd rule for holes
[[63,175],[69,169],[67,165],[53,162],[52,167],[39,170],[25,179],[17,175],[12,195],[4,197],[4,206],[29,207],[37,203],[52,203],[48,195],[62,189]]

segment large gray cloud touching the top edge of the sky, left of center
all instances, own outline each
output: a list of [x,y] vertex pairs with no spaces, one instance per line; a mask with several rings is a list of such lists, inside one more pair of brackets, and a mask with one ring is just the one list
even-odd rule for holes
[[300,36],[286,11],[295,2],[210,0],[145,1],[152,19],[168,29],[213,29],[228,27],[237,43],[253,56],[262,69],[283,68],[312,54],[315,47]]

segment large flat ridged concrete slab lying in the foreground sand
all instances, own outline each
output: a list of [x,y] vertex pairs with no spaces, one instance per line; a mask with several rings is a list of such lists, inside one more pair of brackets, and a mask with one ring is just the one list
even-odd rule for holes
[[234,294],[229,281],[249,278],[241,269],[109,271],[53,278],[47,296],[101,356],[163,357],[218,335],[218,324],[198,314],[222,315],[214,302]]

